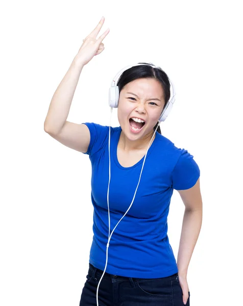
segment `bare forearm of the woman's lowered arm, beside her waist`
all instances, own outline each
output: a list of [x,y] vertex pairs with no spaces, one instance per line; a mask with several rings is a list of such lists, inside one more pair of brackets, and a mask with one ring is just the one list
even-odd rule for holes
[[177,257],[178,274],[186,276],[202,226],[202,210],[185,210]]

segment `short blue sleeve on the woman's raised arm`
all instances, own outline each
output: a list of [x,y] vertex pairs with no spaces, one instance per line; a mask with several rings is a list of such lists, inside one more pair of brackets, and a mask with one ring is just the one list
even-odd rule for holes
[[83,153],[91,156],[94,153],[98,152],[106,144],[109,127],[93,122],[84,122],[83,124],[87,125],[90,133],[90,142],[87,152]]

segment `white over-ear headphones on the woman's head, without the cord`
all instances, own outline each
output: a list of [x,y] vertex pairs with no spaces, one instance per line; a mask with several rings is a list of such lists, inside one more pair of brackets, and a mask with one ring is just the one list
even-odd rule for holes
[[[118,101],[119,101],[119,88],[116,85],[117,81],[120,77],[120,75],[127,69],[134,67],[134,66],[140,66],[140,65],[150,65],[153,68],[159,68],[156,67],[154,65],[151,64],[135,64],[135,65],[129,65],[124,67],[122,70],[120,70],[115,77],[113,78],[112,82],[111,82],[111,87],[109,88],[109,106],[111,108],[117,108],[118,107]],[[164,121],[167,117],[169,112],[172,110],[173,104],[175,102],[175,95],[176,95],[176,91],[175,91],[175,86],[173,85],[172,81],[169,80],[169,83],[171,84],[171,98],[168,100],[168,102],[166,103],[160,117],[159,117],[159,122]]]

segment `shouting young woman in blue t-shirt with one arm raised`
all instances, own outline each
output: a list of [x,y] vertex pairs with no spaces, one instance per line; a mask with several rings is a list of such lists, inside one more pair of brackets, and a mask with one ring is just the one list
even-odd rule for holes
[[[80,306],[189,305],[187,269],[202,224],[200,169],[161,135],[158,123],[171,101],[167,74],[147,63],[123,71],[119,127],[66,121],[82,68],[104,49],[109,29],[96,39],[103,23],[83,40],[44,123],[45,132],[92,164],[94,236]],[[185,205],[177,262],[167,236],[174,189]]]

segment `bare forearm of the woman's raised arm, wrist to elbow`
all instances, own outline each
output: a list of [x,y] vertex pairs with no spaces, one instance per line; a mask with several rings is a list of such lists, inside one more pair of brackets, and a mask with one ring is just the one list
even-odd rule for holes
[[74,59],[57,87],[44,121],[46,132],[58,133],[65,123],[83,67]]

